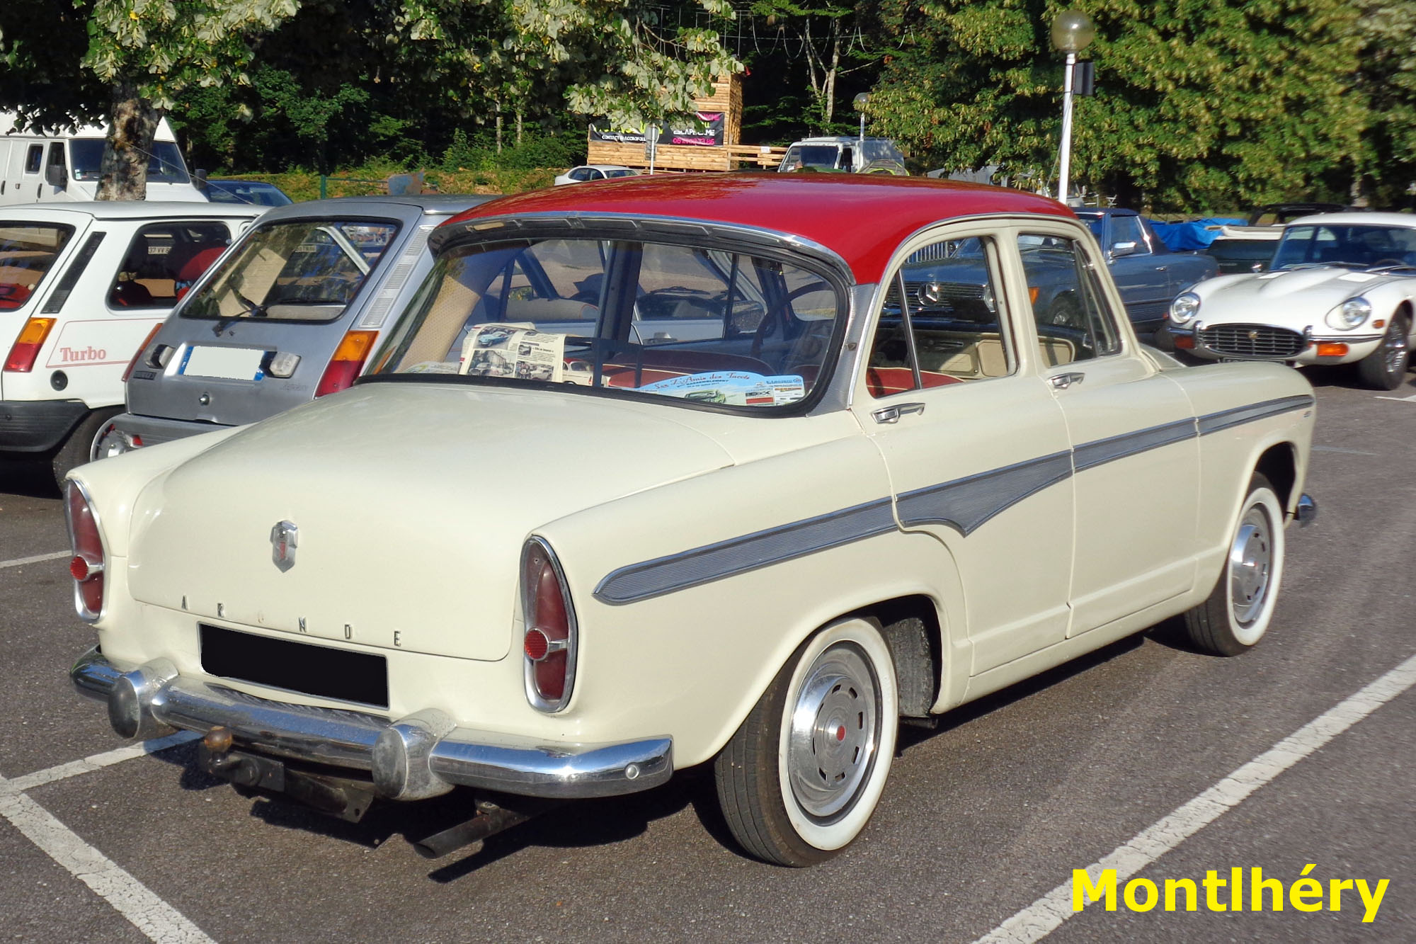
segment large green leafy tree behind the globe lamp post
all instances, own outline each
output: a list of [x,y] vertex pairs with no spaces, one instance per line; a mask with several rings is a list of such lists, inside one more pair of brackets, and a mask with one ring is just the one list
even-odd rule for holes
[[[1049,0],[888,0],[901,45],[877,125],[950,169],[1000,163],[1055,180],[1061,55]],[[1076,108],[1078,177],[1158,207],[1308,194],[1355,170],[1366,101],[1341,0],[1089,0],[1097,95]]]

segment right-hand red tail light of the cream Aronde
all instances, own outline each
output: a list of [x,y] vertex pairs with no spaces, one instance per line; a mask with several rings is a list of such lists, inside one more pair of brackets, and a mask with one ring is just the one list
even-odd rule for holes
[[521,550],[521,612],[527,700],[542,712],[559,712],[575,686],[575,607],[561,563],[539,537]]

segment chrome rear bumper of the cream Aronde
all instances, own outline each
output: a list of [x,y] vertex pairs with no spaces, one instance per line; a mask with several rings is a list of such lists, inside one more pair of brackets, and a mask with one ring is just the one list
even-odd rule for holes
[[69,669],[81,695],[108,703],[123,737],[166,729],[231,731],[235,744],[317,764],[370,771],[391,799],[422,799],[455,784],[525,797],[613,797],[657,787],[674,772],[673,738],[537,744],[459,727],[438,710],[389,721],[377,714],[272,702],[181,676],[166,659],[123,670],[89,649]]

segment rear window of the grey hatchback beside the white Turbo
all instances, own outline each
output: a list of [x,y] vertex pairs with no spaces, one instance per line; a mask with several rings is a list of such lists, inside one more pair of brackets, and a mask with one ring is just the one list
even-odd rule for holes
[[290,220],[258,227],[183,309],[184,318],[333,322],[398,235],[391,220]]

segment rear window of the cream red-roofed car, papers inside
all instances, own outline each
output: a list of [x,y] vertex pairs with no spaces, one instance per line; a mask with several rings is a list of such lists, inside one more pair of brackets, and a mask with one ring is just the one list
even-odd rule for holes
[[439,259],[374,373],[784,407],[823,378],[841,313],[823,275],[724,248],[589,238],[463,247]]

